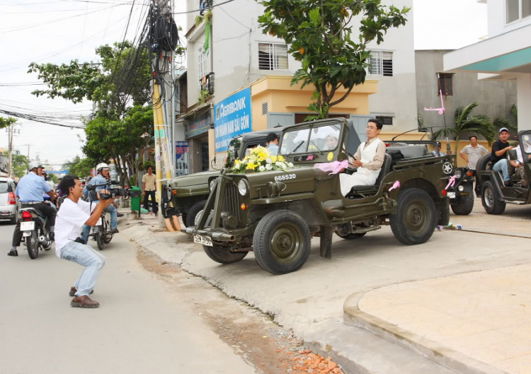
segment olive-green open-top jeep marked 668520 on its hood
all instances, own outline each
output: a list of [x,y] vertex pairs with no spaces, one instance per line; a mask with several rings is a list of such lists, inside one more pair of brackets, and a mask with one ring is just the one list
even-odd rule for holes
[[[335,148],[323,139],[332,132],[338,135]],[[244,174],[223,169],[210,180],[208,214],[182,231],[216,262],[238,262],[252,250],[264,270],[286,274],[307,261],[312,237],[320,238],[321,256],[331,258],[333,233],[354,240],[390,225],[400,242],[415,245],[426,242],[436,225],[447,224],[450,156],[428,154],[428,141],[386,143],[376,184],[355,186],[343,197],[339,174],[314,164],[346,160],[356,141],[346,119],[285,127],[279,153],[297,166]]]

